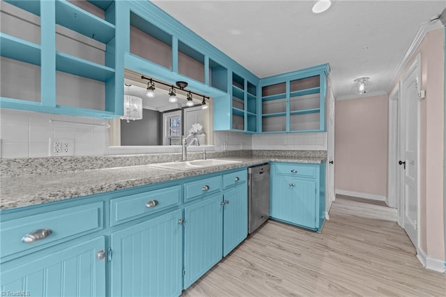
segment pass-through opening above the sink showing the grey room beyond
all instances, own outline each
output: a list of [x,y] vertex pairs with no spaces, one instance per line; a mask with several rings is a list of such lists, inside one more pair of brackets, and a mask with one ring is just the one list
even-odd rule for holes
[[[151,77],[157,79],[156,77]],[[155,97],[146,96],[148,81],[140,73],[125,70],[125,95],[142,98],[142,119],[127,121],[114,119],[110,129],[111,146],[178,146],[181,135],[190,145],[213,145],[212,100],[192,96],[194,105],[186,105],[187,92],[176,90],[177,102],[169,102],[169,87],[155,83]],[[203,94],[206,95],[206,94]]]

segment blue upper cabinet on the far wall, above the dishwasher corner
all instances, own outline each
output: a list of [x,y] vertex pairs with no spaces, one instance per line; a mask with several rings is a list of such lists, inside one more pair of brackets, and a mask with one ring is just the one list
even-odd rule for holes
[[323,64],[261,79],[263,133],[325,131],[325,96],[330,66]]

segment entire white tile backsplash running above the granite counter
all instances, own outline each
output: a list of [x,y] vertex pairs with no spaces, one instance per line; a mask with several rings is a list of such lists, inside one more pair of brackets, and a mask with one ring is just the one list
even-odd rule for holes
[[[51,119],[72,123],[50,122]],[[49,138],[75,139],[75,155],[164,153],[162,147],[109,148],[109,129],[105,120],[81,116],[40,114],[0,109],[1,158],[38,158],[49,156]],[[327,150],[326,132],[302,132],[249,135],[240,132],[215,131],[215,146],[208,150]],[[197,148],[201,151],[201,148]],[[169,152],[180,152],[180,146]],[[190,148],[194,151],[194,148]]]

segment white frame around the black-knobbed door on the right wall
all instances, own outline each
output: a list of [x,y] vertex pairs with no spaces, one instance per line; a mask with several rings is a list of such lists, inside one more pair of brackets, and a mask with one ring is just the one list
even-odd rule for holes
[[[403,121],[403,110],[404,110],[404,105],[406,104],[406,94],[404,93],[404,89],[403,89],[403,81],[405,79],[408,78],[408,76],[413,73],[413,71],[416,71],[416,79],[417,79],[417,91],[420,91],[421,89],[421,82],[422,82],[422,72],[421,72],[421,53],[418,53],[417,56],[415,56],[415,59],[413,60],[413,63],[410,65],[410,67],[406,70],[406,72],[404,73],[403,77],[401,78],[401,80],[399,81],[399,84],[401,86],[400,89],[400,98],[401,100],[399,100],[400,104],[399,104],[399,119],[400,119],[400,125],[399,125],[399,143],[401,144],[399,146],[399,160],[401,160],[402,156],[404,155],[404,151],[405,151],[405,147],[403,146],[403,144],[405,143],[404,139],[404,132],[406,127],[404,126],[404,121]],[[417,100],[417,245],[415,246],[415,249],[417,250],[417,254],[420,254],[420,238],[421,238],[421,228],[420,228],[420,197],[421,197],[421,187],[420,187],[420,148],[421,148],[421,141],[420,141],[420,126],[421,126],[421,121],[420,121],[420,100]],[[400,171],[401,172],[401,171]],[[399,180],[399,187],[401,189],[401,187],[404,187],[404,179],[403,179],[403,175],[400,175],[401,178]],[[398,212],[398,223],[400,224],[400,226],[404,229],[404,213],[405,213],[405,199],[403,197],[403,195],[401,195],[402,191],[400,190],[399,192],[399,201],[400,201],[400,208],[399,208],[399,212]]]

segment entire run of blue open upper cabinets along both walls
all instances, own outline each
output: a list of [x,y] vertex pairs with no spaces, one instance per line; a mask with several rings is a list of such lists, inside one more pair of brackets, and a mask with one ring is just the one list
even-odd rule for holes
[[2,108],[120,116],[127,68],[211,97],[214,130],[325,130],[328,64],[259,79],[151,1],[3,2],[1,64],[26,81]]

